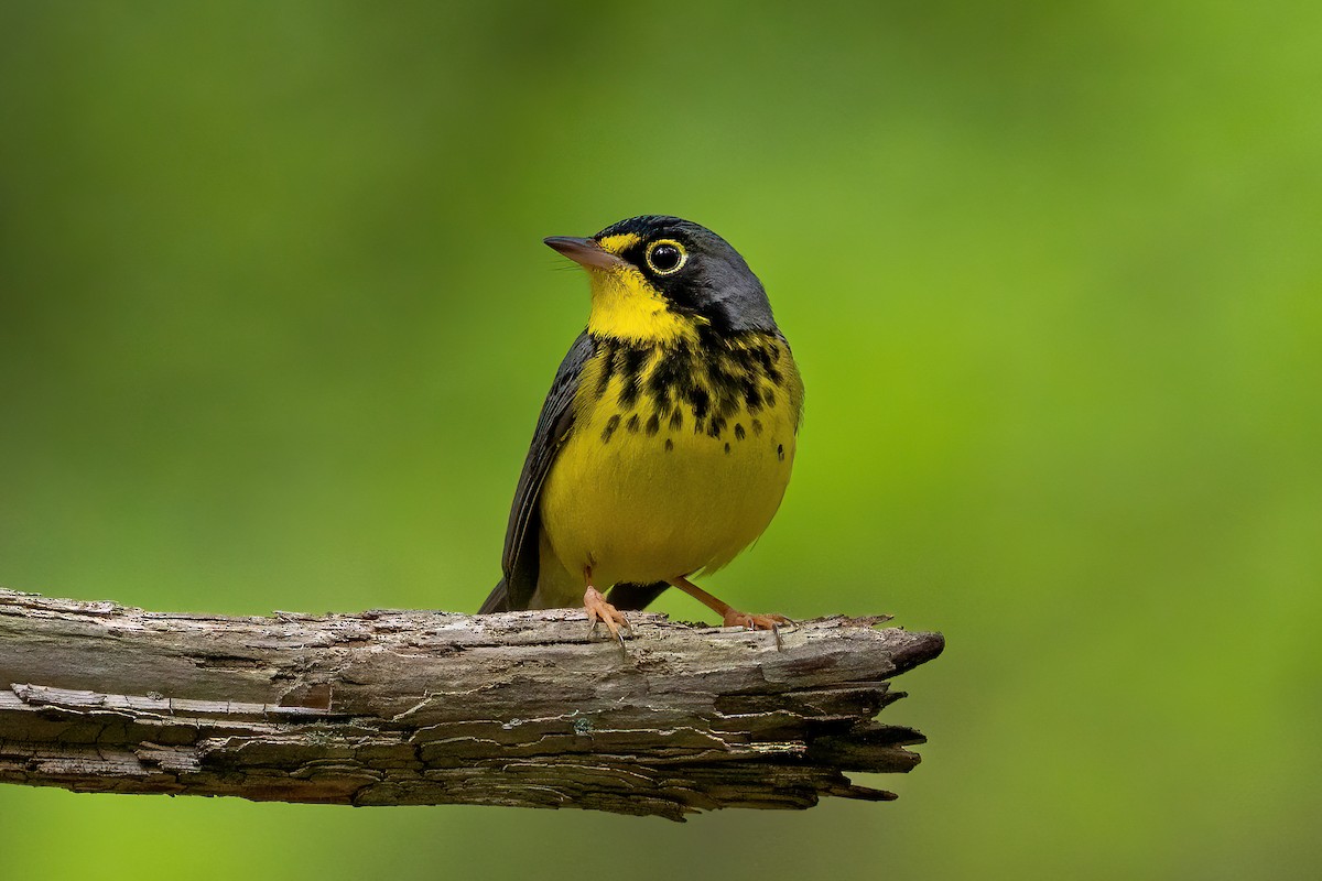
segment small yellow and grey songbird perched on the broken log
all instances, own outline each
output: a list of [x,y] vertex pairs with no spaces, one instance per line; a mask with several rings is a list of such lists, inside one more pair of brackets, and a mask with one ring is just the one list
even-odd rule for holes
[[804,383],[761,281],[677,217],[545,243],[587,271],[591,309],[538,416],[480,613],[582,606],[623,650],[623,613],[674,586],[779,649],[789,618],[691,580],[763,534],[795,462]]

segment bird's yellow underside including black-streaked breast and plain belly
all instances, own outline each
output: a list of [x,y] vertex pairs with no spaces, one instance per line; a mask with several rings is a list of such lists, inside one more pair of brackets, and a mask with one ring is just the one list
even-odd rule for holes
[[802,384],[779,337],[711,345],[599,343],[542,487],[539,590],[580,596],[583,567],[602,589],[710,572],[771,523]]

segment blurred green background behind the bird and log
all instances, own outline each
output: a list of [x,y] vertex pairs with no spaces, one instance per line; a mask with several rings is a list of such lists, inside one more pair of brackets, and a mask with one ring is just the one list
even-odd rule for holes
[[0,787],[0,876],[1313,876],[1319,82],[1317,3],[0,4],[0,584],[476,608],[587,313],[541,238],[673,213],[808,384],[709,585],[948,638],[892,804]]

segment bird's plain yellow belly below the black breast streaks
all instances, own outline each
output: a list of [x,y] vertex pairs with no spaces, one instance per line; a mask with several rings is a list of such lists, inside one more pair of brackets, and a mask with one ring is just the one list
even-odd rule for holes
[[695,431],[690,408],[652,419],[645,400],[613,400],[579,409],[542,487],[535,606],[580,602],[586,567],[602,590],[715,571],[761,535],[789,483],[798,394],[734,409],[719,436]]

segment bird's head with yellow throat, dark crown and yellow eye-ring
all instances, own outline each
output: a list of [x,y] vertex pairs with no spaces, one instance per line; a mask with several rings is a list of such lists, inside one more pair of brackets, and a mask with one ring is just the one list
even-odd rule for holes
[[711,230],[677,217],[635,217],[587,239],[551,236],[546,244],[588,271],[588,330],[635,342],[775,332],[758,276]]

